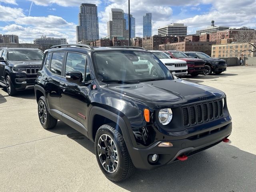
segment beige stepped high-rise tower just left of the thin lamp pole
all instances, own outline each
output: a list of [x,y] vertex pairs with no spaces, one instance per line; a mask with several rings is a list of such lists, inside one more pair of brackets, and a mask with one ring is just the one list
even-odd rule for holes
[[124,10],[111,9],[110,21],[108,21],[108,36],[128,38],[126,19],[124,19]]

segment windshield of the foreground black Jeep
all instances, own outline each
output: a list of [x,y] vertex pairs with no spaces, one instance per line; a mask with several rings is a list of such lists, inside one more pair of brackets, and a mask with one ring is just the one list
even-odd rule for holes
[[94,52],[94,63],[100,80],[115,83],[138,83],[172,79],[171,73],[151,52]]

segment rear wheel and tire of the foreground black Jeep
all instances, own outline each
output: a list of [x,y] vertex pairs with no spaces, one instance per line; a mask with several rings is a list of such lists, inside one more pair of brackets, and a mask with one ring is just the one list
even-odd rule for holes
[[48,112],[45,98],[44,96],[41,96],[38,100],[38,117],[39,121],[43,128],[45,129],[52,129],[57,124],[57,119],[55,119],[53,116],[50,115]]

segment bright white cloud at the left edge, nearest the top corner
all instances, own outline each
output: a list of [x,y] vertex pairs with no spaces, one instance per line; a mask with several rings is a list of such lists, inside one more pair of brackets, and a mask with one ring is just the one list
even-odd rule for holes
[[0,21],[10,22],[16,18],[25,16],[21,8],[10,8],[0,5]]

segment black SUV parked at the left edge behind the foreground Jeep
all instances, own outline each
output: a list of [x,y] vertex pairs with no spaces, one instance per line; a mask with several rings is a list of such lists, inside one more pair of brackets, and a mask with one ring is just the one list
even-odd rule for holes
[[34,88],[44,53],[33,48],[0,48],[0,85],[10,96]]

